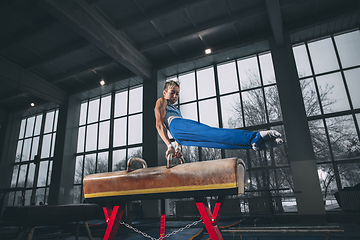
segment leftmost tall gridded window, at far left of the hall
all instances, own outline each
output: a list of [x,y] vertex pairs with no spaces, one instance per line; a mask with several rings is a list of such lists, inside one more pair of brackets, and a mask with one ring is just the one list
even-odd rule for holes
[[22,119],[9,206],[47,203],[57,120],[57,109]]

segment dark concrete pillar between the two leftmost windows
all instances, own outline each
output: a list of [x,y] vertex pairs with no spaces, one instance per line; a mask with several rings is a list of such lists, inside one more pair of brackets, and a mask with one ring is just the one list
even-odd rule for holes
[[49,205],[73,203],[80,104],[79,100],[70,98],[59,107]]

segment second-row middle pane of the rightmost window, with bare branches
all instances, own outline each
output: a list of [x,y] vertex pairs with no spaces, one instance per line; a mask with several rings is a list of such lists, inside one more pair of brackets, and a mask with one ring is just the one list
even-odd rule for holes
[[324,113],[349,110],[344,83],[340,73],[328,74],[317,78],[321,104]]

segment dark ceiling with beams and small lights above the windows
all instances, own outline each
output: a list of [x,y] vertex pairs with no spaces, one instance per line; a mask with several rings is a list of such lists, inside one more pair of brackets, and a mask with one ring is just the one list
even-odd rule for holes
[[359,0],[2,0],[0,110],[148,81],[154,70],[290,33],[359,28]]

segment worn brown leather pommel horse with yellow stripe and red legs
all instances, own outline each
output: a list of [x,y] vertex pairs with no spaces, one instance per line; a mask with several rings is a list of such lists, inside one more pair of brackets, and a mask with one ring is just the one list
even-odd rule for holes
[[[143,168],[132,170],[133,161]],[[201,219],[212,240],[223,239],[217,226],[226,195],[244,193],[245,163],[239,158],[148,168],[140,158],[130,158],[125,171],[88,175],[83,179],[86,202],[103,206],[107,228],[104,240],[115,239],[126,201],[194,197]],[[211,212],[205,196],[217,195]],[[165,212],[161,212],[160,239],[165,236]]]

